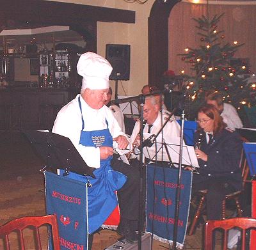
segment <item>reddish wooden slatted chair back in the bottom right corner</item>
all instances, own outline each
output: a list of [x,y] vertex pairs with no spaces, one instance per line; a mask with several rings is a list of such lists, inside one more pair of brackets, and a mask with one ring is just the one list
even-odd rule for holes
[[246,242],[245,235],[246,230],[254,229],[256,230],[256,219],[237,217],[232,219],[225,219],[221,221],[207,221],[205,224],[205,239],[204,239],[204,249],[212,250],[212,231],[216,228],[221,228],[224,231],[223,247],[221,249],[227,250],[227,239],[228,230],[232,228],[241,228],[241,250],[245,250]]

